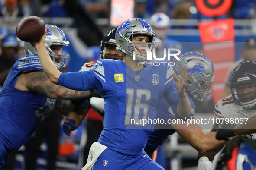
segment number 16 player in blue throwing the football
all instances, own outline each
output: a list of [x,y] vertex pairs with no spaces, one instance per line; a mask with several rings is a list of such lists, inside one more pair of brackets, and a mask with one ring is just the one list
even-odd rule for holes
[[126,54],[123,61],[99,59],[86,72],[59,72],[44,46],[46,33],[47,30],[39,41],[32,44],[49,80],[73,90],[97,89],[105,99],[104,130],[98,142],[91,146],[89,161],[83,170],[92,167],[94,170],[103,167],[111,170],[163,169],[144,152],[153,125],[143,126],[138,121],[153,119],[162,97],[170,106],[176,105],[173,114],[181,118],[190,115],[191,104],[185,93],[188,68],[183,67],[178,79],[170,66],[139,65],[146,60],[145,54],[136,55],[136,60],[133,60],[131,47],[152,49],[156,38],[148,22],[140,18],[127,19],[117,29],[118,50]]

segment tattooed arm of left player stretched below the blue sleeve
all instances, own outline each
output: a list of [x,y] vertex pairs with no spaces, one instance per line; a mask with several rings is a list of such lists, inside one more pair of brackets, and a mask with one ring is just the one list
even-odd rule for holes
[[42,71],[28,72],[19,75],[15,88],[20,91],[35,91],[36,93],[54,99],[75,100],[88,98],[90,96],[90,91],[75,91],[53,84]]

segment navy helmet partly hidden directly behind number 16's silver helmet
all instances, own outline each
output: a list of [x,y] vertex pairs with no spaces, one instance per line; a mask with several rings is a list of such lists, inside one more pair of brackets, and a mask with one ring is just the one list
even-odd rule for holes
[[123,58],[123,54],[121,56],[114,55],[114,54],[106,54],[107,47],[113,46],[116,49],[116,31],[118,27],[112,28],[107,31],[106,35],[104,35],[103,39],[101,40],[100,47],[100,58],[102,59],[113,59],[118,60]]

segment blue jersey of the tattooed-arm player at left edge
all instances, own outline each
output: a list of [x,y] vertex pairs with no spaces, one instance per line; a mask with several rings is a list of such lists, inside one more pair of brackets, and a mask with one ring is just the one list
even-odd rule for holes
[[32,70],[42,71],[38,56],[20,58],[13,65],[0,91],[0,142],[8,152],[18,150],[55,107],[55,99],[14,88],[18,76]]

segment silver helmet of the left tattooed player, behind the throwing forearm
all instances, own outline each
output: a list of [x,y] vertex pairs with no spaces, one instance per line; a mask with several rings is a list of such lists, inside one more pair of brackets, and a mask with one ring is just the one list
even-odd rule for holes
[[[67,41],[64,32],[60,28],[58,28],[57,26],[47,25],[47,24],[45,24],[45,26],[47,28],[47,35],[46,35],[46,39],[45,39],[45,47],[46,47],[50,57],[52,58],[53,63],[55,64],[55,66],[57,68],[67,66],[69,55],[64,54],[64,52],[62,50],[61,50],[62,54],[53,53],[50,46],[51,45],[68,46],[69,41]],[[35,48],[32,47],[32,45],[29,42],[25,42],[25,47],[24,48],[25,48],[25,54],[26,55],[33,55],[33,54],[37,55],[37,52],[36,52]],[[59,63],[55,62],[55,57],[61,58]]]

